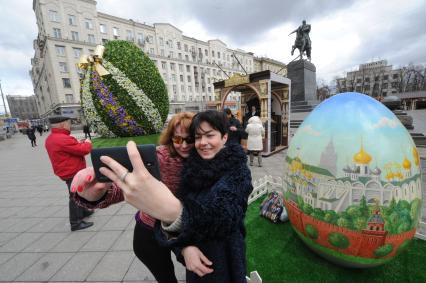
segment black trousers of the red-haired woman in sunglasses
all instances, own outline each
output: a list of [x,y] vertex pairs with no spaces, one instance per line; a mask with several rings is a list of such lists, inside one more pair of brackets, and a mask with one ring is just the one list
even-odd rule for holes
[[171,250],[157,243],[151,227],[136,222],[133,251],[159,283],[177,283]]

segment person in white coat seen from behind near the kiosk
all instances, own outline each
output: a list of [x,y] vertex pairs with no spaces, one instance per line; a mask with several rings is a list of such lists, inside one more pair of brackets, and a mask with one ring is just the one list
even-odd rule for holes
[[253,116],[248,120],[246,133],[248,134],[247,150],[250,154],[250,166],[253,166],[254,156],[257,156],[259,167],[262,167],[262,151],[265,129],[263,128],[262,121],[258,116]]

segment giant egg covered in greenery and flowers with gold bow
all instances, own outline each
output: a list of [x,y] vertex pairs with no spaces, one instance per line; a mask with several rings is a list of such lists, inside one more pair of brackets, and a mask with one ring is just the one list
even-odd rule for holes
[[97,46],[80,59],[81,103],[88,123],[104,137],[161,131],[167,118],[167,88],[157,67],[140,48],[123,40]]

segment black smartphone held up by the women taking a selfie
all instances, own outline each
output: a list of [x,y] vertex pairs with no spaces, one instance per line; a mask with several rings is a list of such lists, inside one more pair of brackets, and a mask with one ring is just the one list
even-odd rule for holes
[[[154,144],[141,144],[137,146],[138,151],[142,157],[143,163],[149,173],[154,176],[156,179],[161,180],[160,176],[160,167],[158,165],[157,152]],[[96,180],[98,182],[107,183],[111,180],[102,175],[99,172],[100,167],[107,167],[106,164],[102,163],[100,160],[101,156],[109,156],[123,167],[126,167],[129,172],[133,171],[132,163],[130,162],[129,155],[127,153],[127,148],[125,146],[120,147],[107,147],[107,148],[95,148],[92,149],[90,154],[92,158],[93,169],[95,170]]]

